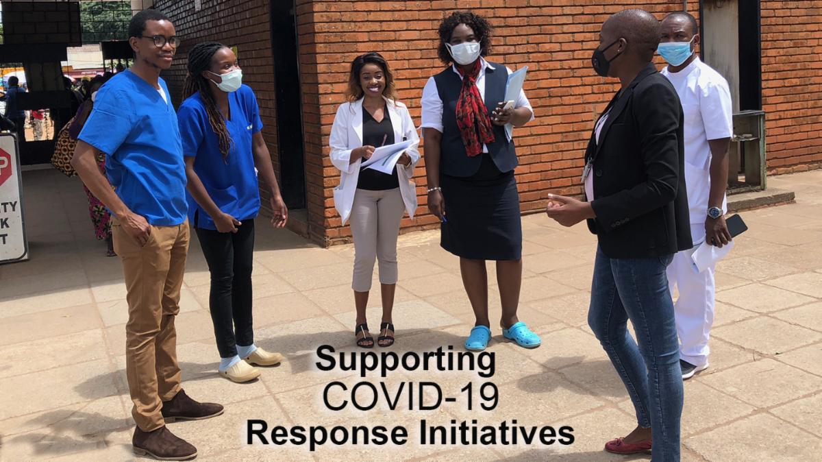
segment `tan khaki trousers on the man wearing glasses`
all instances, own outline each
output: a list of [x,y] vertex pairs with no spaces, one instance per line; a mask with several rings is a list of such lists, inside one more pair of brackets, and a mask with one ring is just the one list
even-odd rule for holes
[[151,432],[163,427],[163,401],[180,390],[177,331],[180,288],[188,252],[188,221],[177,226],[152,226],[140,247],[120,226],[112,223],[114,250],[122,260],[126,280],[126,374],[137,427]]

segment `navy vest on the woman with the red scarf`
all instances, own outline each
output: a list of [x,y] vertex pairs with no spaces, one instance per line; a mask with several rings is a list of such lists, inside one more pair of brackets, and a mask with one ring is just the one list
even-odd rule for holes
[[[496,104],[506,97],[508,70],[501,64],[488,62],[490,67],[485,70],[485,107],[492,113]],[[469,157],[465,154],[465,145],[457,127],[457,99],[462,88],[462,79],[459,78],[453,67],[446,69],[436,76],[436,92],[442,100],[442,141],[440,144],[440,172],[450,177],[470,177],[479,170],[482,155]],[[514,150],[514,142],[508,141],[505,127],[492,125],[494,142],[489,143],[488,154],[502,173],[515,169],[518,162]]]

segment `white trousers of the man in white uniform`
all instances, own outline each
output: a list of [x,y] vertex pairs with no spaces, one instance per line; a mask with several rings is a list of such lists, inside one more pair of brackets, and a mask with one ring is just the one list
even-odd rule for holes
[[[702,243],[705,238],[704,224],[691,224],[690,233],[694,243]],[[693,270],[690,262],[693,252],[694,249],[677,252],[667,267],[667,277],[671,296],[675,287],[679,292],[674,308],[680,357],[695,366],[703,366],[708,363],[710,353],[708,340],[713,326],[716,286],[713,266],[699,274]]]

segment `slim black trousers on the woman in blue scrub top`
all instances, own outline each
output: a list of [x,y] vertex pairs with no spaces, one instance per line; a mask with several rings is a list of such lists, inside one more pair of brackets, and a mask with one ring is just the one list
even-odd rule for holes
[[252,257],[254,219],[237,233],[196,228],[211,273],[209,309],[220,358],[237,355],[237,345],[254,343],[252,327]]

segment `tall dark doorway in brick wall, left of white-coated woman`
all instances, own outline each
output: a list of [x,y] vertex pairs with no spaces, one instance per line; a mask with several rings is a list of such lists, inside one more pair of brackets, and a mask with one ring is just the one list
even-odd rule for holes
[[271,51],[277,95],[277,144],[280,188],[289,210],[306,206],[305,161],[302,145],[297,16],[295,2],[271,2]]

